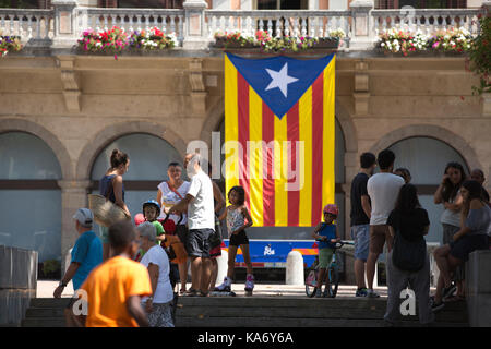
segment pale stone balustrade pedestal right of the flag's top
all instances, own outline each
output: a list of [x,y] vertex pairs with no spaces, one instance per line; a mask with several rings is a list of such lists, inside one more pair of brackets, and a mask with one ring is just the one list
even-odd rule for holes
[[349,48],[371,49],[373,37],[371,33],[372,19],[370,12],[373,10],[373,0],[355,0],[350,3],[352,28]]

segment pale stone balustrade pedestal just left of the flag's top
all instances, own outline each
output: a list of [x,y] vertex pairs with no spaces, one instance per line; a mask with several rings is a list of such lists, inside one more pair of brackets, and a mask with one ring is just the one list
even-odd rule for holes
[[187,0],[183,3],[185,12],[183,48],[202,50],[208,47],[205,31],[204,10],[207,3],[204,0]]

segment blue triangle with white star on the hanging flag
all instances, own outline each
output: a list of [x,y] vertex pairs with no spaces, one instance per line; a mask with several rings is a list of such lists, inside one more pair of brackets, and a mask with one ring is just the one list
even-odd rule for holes
[[248,84],[282,119],[314,83],[334,53],[310,60],[284,56],[262,59],[241,58],[231,53],[227,56]]

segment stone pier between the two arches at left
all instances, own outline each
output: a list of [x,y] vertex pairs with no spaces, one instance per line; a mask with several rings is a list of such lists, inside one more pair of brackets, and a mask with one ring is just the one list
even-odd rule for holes
[[61,188],[61,261],[67,252],[73,248],[76,240],[73,215],[81,207],[87,207],[87,192],[91,181],[60,180]]

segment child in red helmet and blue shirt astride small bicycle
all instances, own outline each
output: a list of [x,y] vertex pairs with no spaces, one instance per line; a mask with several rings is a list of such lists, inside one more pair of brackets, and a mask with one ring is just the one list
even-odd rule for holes
[[[339,234],[337,232],[336,220],[339,215],[339,209],[335,204],[325,205],[323,209],[324,222],[320,222],[314,231],[312,232],[312,238],[319,240],[319,277],[318,277],[318,290],[315,297],[322,297],[322,284],[326,276],[326,269],[328,268],[331,261],[333,258],[335,243],[340,241]],[[325,281],[326,287],[328,286],[328,280]]]

